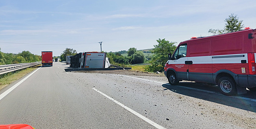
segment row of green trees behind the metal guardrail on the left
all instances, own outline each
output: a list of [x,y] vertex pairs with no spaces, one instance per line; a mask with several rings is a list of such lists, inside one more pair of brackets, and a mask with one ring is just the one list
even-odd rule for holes
[[42,60],[41,56],[34,55],[29,51],[22,51],[18,54],[3,53],[0,51],[0,65],[30,63],[30,62],[37,62],[41,60]]

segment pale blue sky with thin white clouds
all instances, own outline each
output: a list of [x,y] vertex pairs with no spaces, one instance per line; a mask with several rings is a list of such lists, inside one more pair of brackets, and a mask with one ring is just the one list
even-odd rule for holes
[[256,0],[0,0],[1,52],[117,52],[223,29],[231,13],[256,29]]

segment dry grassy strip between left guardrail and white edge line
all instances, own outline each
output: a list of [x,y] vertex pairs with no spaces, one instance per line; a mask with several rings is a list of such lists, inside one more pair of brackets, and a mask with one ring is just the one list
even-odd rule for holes
[[41,65],[37,65],[35,67],[30,67],[30,68],[26,68],[26,69],[22,69],[22,70],[6,73],[5,75],[2,75],[0,78],[0,90],[8,86],[9,84],[15,82],[16,80],[19,80],[20,78],[24,77],[25,75],[34,71],[40,66]]

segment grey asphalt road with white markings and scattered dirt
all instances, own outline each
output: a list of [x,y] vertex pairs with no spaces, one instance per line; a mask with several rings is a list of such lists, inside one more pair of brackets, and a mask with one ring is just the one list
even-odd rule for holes
[[214,86],[171,86],[165,77],[122,72],[67,73],[66,67],[54,62],[38,68],[0,99],[0,124],[35,129],[256,128],[255,92],[228,97]]

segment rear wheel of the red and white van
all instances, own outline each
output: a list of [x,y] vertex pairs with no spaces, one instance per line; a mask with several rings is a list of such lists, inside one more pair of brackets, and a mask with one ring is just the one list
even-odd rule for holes
[[218,88],[223,95],[236,95],[236,82],[231,77],[221,77],[218,81]]

